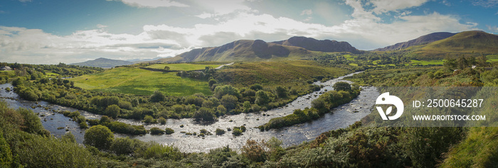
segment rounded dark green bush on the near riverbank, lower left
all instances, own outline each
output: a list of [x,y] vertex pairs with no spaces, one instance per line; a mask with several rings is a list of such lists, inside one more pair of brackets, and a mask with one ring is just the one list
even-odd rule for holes
[[114,134],[104,125],[95,125],[85,131],[83,144],[97,147],[99,150],[108,150],[114,140]]

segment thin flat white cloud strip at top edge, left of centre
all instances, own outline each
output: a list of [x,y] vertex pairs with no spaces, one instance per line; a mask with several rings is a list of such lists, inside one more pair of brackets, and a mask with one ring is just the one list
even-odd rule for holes
[[177,1],[170,0],[106,0],[106,1],[122,1],[123,4],[139,8],[157,8],[157,7],[188,7],[186,4],[181,4]]

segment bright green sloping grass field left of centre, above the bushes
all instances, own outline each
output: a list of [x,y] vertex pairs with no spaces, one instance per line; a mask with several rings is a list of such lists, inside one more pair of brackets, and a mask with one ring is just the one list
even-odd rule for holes
[[108,69],[102,73],[87,74],[70,80],[75,82],[75,86],[83,89],[122,94],[151,95],[156,90],[170,96],[186,96],[199,92],[212,94],[208,82],[177,77],[174,72],[152,72],[130,67]]

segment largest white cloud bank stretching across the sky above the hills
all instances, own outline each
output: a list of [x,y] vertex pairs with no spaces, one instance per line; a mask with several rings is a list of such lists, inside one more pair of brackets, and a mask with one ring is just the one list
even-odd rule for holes
[[[218,1],[221,2],[221,1]],[[255,13],[244,1],[226,1],[230,9],[211,9],[198,17],[227,15],[216,23],[198,23],[189,27],[146,25],[142,33],[115,34],[97,25],[97,30],[81,30],[71,35],[53,35],[39,29],[0,26],[0,62],[56,64],[82,62],[85,59],[108,57],[134,59],[171,57],[197,47],[219,46],[240,39],[265,41],[284,40],[295,35],[317,39],[344,40],[361,50],[371,50],[420,35],[438,31],[459,32],[475,29],[476,23],[460,23],[460,18],[440,13],[414,16],[404,11],[393,23],[384,23],[374,11],[364,9],[361,1],[346,0],[354,11],[351,18],[334,26],[305,23],[292,18]],[[235,3],[235,4],[233,4]],[[405,5],[406,6],[406,5]],[[398,10],[403,7],[386,7]],[[406,7],[405,7],[406,8]],[[382,11],[379,9],[379,11]],[[307,16],[308,12],[302,12]],[[309,11],[312,14],[312,11]],[[490,30],[496,30],[489,26]],[[4,57],[4,55],[7,55]]]

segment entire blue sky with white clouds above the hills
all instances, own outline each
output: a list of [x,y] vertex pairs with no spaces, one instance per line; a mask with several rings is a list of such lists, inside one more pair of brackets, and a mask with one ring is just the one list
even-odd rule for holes
[[1,0],[0,62],[173,57],[306,36],[373,50],[435,32],[498,33],[498,0]]

